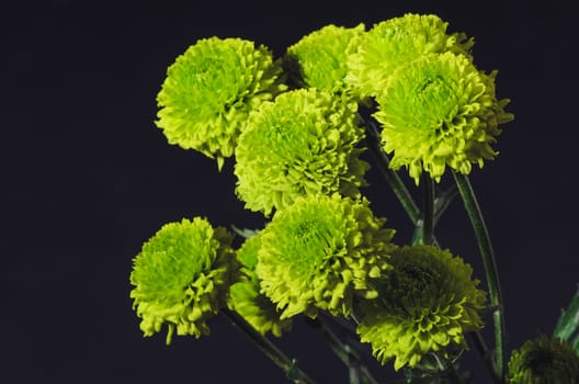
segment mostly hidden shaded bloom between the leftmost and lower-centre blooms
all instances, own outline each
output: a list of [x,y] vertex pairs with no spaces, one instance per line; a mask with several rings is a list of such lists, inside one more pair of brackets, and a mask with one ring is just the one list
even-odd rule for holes
[[230,305],[249,324],[262,335],[271,331],[281,336],[282,331],[292,329],[292,319],[280,319],[275,304],[260,293],[260,281],[256,274],[258,251],[261,247],[261,235],[248,238],[237,251],[243,276],[230,290]]

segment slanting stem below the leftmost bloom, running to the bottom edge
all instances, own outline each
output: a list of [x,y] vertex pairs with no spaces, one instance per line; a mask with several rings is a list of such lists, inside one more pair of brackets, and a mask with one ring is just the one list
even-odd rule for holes
[[229,318],[239,329],[241,329],[250,339],[261,349],[279,368],[284,371],[287,379],[296,384],[315,384],[315,382],[304,373],[299,368],[296,366],[296,360],[290,359],[285,355],[277,347],[275,347],[270,340],[263,335],[258,332],[249,323],[247,323],[236,312],[224,308],[223,314]]

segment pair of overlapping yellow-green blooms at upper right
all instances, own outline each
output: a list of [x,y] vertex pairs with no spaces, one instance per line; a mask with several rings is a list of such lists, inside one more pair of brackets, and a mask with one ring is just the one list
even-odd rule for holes
[[513,115],[495,94],[497,72],[473,64],[472,38],[446,33],[435,15],[406,14],[374,25],[348,57],[345,80],[377,102],[373,116],[390,168],[440,181],[446,167],[469,173],[497,154],[499,124]]

